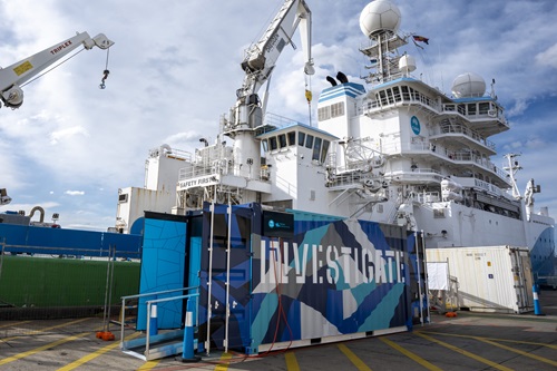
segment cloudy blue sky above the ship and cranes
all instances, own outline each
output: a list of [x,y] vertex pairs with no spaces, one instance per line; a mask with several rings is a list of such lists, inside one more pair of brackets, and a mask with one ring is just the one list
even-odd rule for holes
[[[316,74],[304,97],[303,51],[285,48],[267,111],[307,124],[316,118],[325,76],[359,82],[367,64],[359,27],[365,0],[306,0]],[[429,38],[409,46],[418,69],[450,95],[458,75],[475,72],[495,89],[510,130],[492,136],[496,165],[520,153],[524,192],[535,178],[536,207],[557,216],[557,2],[555,0],[397,0],[400,31]],[[194,152],[213,143],[219,117],[235,104],[244,50],[258,40],[282,0],[0,0],[0,66],[87,31],[105,33],[109,52],[86,50],[23,87],[21,108],[0,109],[0,188],[4,211],[58,213],[65,228],[106,231],[116,222],[118,188],[143,187],[145,159],[168,144]],[[99,89],[108,61],[110,75]],[[488,88],[489,89],[489,88]]]

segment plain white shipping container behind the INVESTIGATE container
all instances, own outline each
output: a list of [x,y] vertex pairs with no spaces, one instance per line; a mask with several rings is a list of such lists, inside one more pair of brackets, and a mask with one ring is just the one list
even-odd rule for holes
[[[458,280],[458,306],[478,312],[525,313],[534,310],[534,277],[528,248],[475,246],[427,248],[429,286],[442,284],[442,276]],[[446,263],[448,270],[431,264]]]

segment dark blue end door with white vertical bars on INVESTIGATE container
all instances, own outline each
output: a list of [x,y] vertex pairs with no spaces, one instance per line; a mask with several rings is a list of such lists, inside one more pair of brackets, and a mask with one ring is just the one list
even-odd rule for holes
[[228,213],[227,205],[215,205],[213,216],[207,205],[204,213],[199,315],[206,322],[199,339],[207,339],[209,328],[206,348],[244,350],[250,344],[252,214],[241,206]]

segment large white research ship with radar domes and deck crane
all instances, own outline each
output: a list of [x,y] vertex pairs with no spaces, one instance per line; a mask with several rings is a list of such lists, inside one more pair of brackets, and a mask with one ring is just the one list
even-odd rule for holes
[[[554,270],[555,221],[535,205],[540,186],[520,186],[519,154],[497,166],[494,138],[509,124],[495,81],[471,71],[446,94],[417,75],[409,47],[428,39],[399,29],[394,2],[375,0],[360,14],[360,47],[369,75],[326,79],[317,123],[266,111],[260,89],[299,28],[305,72],[313,74],[311,12],[285,1],[262,38],[245,52],[236,104],[223,115],[216,140],[185,152],[162,145],[149,152],[144,187],[120,188],[116,227],[140,233],[144,211],[184,215],[204,203],[260,203],[307,217],[405,226],[426,247],[527,246],[535,276]],[[311,98],[311,92],[307,91]]]

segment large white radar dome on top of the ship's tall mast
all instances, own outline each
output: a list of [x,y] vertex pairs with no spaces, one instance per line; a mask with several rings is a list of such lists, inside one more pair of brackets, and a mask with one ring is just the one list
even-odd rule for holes
[[389,0],[375,0],[363,8],[360,28],[363,35],[372,37],[381,31],[395,31],[400,25],[400,10]]

